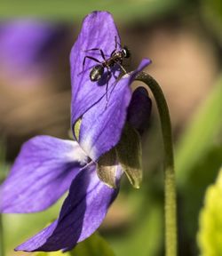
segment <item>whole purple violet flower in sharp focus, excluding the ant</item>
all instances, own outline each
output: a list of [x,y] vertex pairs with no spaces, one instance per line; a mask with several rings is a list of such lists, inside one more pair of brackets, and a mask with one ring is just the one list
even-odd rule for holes
[[[59,218],[27,242],[20,244],[16,250],[47,252],[72,249],[76,243],[91,236],[99,228],[109,205],[117,196],[124,166],[117,162],[112,148],[118,144],[116,147],[119,147],[119,151],[122,150],[123,143],[119,141],[124,133],[126,120],[135,128],[144,126],[144,123],[140,125],[135,121],[135,111],[127,112],[130,104],[129,110],[141,109],[131,97],[142,104],[146,102],[143,105],[147,111],[143,112],[143,118],[144,114],[150,112],[151,105],[148,98],[139,100],[144,99],[143,89],[139,88],[132,93],[130,88],[134,76],[150,60],[142,60],[139,68],[131,75],[123,76],[118,83],[115,82],[120,70],[112,67],[108,87],[106,83],[102,84],[103,81],[90,80],[91,68],[98,63],[87,60],[83,70],[83,59],[89,53],[85,51],[101,48],[106,56],[110,56],[115,48],[115,36],[119,43],[116,51],[120,51],[120,38],[108,12],[92,12],[85,18],[70,55],[71,124],[75,141],[50,136],[37,136],[28,140],[21,148],[9,177],[0,188],[0,211],[13,213],[43,211],[69,191]],[[102,61],[98,52],[92,53],[89,55]],[[133,147],[137,148],[136,145]],[[123,151],[127,154],[128,148],[123,148]],[[127,175],[133,180],[131,170]],[[103,181],[110,181],[110,177],[114,180],[111,180],[113,184],[107,182],[108,187]]]

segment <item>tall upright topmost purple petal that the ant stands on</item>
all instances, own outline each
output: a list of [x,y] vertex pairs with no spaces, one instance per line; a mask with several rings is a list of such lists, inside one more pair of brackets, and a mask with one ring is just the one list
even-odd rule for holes
[[[110,56],[111,52],[115,50],[115,36],[118,42],[116,49],[118,50],[120,49],[120,37],[110,13],[91,12],[83,20],[83,27],[70,54],[72,124],[75,124],[77,119],[106,93],[106,81],[91,82],[90,80],[91,68],[98,63],[87,58],[83,67],[85,56],[91,56],[100,61],[103,60],[102,56],[99,51],[86,51],[99,48],[106,54],[106,57]],[[119,73],[120,71],[116,71],[116,76]],[[115,76],[112,76],[109,83],[113,84],[114,81]],[[103,84],[105,86],[101,86]]]

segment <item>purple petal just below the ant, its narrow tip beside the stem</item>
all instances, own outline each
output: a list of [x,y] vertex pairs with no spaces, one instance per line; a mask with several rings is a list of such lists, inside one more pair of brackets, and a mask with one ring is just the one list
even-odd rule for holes
[[120,140],[131,101],[130,85],[134,77],[150,60],[144,59],[131,75],[123,76],[117,84],[110,84],[107,97],[103,97],[84,115],[80,128],[79,143],[83,150],[96,161]]

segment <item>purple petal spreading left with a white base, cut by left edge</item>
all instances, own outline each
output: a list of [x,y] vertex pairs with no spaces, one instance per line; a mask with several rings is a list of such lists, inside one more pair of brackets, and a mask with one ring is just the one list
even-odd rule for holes
[[72,140],[37,136],[28,140],[0,187],[0,212],[38,212],[55,203],[87,162]]

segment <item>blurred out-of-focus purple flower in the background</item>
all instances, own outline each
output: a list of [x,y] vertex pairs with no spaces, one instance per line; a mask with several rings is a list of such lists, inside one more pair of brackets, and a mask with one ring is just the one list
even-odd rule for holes
[[[0,24],[1,76],[43,74],[63,30],[39,20],[12,20]],[[52,50],[53,49],[53,50]],[[58,49],[57,49],[58,51]],[[52,61],[50,61],[52,63]]]

